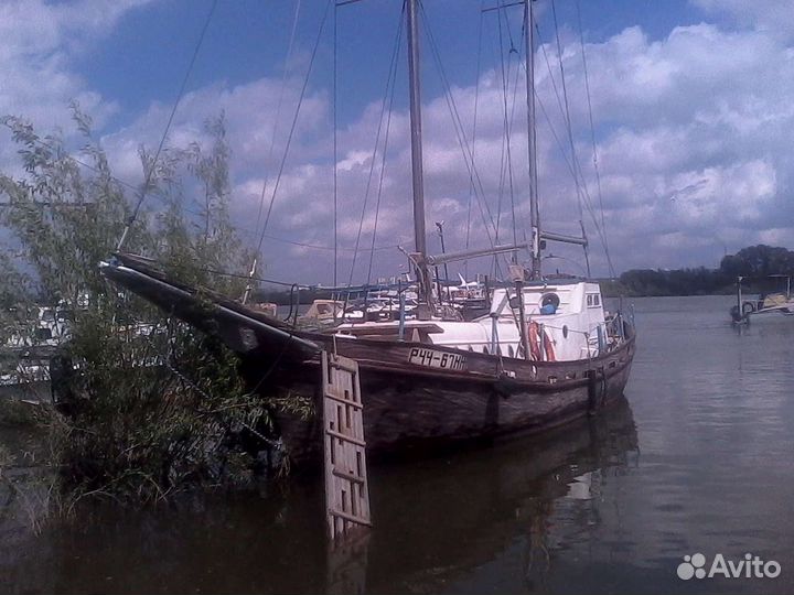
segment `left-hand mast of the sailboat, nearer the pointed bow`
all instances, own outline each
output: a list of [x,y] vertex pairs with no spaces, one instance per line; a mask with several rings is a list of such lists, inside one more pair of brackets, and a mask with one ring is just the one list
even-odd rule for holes
[[430,274],[425,258],[427,235],[425,231],[425,188],[422,182],[421,144],[421,88],[419,76],[419,14],[418,1],[407,0],[408,10],[408,79],[410,86],[411,171],[414,184],[414,238],[416,241],[419,289],[426,300],[431,299]]

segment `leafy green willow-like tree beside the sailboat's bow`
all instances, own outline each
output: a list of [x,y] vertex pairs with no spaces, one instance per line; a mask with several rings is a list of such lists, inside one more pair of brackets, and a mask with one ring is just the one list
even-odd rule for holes
[[[137,196],[114,177],[90,119],[76,106],[74,120],[84,139],[79,162],[60,136],[42,137],[24,120],[6,118],[24,174],[0,174],[7,202],[0,224],[21,255],[0,258],[1,274],[28,280],[7,304],[30,309],[43,298],[72,311],[60,358],[68,364],[69,414],[52,418],[62,485],[78,496],[148,499],[248,477],[254,452],[243,444],[270,428],[262,401],[247,392],[237,358],[223,345],[119,292],[99,273]],[[141,149],[143,170],[153,167],[147,194],[165,208],[158,215],[142,209],[125,248],[157,258],[191,283],[239,295],[245,281],[218,273],[243,272],[250,261],[228,215],[223,116],[208,121],[206,132],[208,149],[168,149],[157,163]],[[185,206],[196,195],[197,212]]]

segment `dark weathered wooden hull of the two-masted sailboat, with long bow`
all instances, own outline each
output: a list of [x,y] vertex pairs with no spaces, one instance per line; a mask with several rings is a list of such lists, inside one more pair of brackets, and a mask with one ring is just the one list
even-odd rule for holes
[[[623,393],[634,357],[633,328],[604,355],[534,361],[431,343],[345,338],[294,328],[240,304],[169,281],[148,262],[119,255],[104,273],[206,333],[240,357],[251,389],[312,400],[322,411],[323,351],[358,363],[367,452],[378,457],[466,441],[533,433],[597,412]],[[290,458],[319,464],[321,420],[277,412]]]

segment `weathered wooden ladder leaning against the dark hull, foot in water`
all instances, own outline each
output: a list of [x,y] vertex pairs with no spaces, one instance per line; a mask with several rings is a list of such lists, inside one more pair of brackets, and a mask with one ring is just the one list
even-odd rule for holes
[[322,353],[325,505],[332,540],[372,527],[358,363]]

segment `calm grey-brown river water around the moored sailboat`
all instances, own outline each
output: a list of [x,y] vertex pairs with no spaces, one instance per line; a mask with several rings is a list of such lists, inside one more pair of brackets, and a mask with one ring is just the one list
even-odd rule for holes
[[[731,304],[634,300],[626,400],[596,419],[371,467],[375,528],[346,549],[326,545],[318,480],[108,505],[39,534],[12,502],[0,592],[794,592],[794,320],[739,332]],[[18,452],[30,440],[6,432]],[[3,494],[0,506],[14,500]],[[707,575],[679,578],[696,553]],[[780,575],[708,576],[718,554],[748,553]]]

